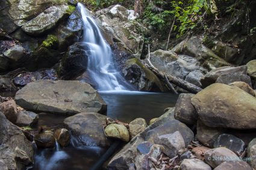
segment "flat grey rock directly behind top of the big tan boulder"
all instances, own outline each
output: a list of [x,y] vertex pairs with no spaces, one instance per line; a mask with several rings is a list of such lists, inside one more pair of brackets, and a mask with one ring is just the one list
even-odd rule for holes
[[216,80],[216,83],[223,83],[226,85],[232,82],[245,82],[245,83],[248,83],[250,86],[252,86],[251,78],[246,74],[240,74],[240,73],[222,74]]

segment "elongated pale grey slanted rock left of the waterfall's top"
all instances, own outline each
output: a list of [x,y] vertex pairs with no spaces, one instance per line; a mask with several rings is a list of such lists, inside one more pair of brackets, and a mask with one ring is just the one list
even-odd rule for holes
[[52,29],[65,14],[68,14],[67,10],[69,10],[69,6],[67,5],[49,7],[34,19],[25,23],[22,26],[22,30],[31,35],[42,34]]

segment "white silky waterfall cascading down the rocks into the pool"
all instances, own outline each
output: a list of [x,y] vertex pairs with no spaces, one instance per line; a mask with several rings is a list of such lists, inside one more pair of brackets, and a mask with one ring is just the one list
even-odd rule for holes
[[114,68],[111,48],[102,37],[95,20],[90,17],[83,4],[78,3],[78,7],[84,26],[83,44],[90,54],[87,73],[93,79],[97,90],[127,90],[129,85]]

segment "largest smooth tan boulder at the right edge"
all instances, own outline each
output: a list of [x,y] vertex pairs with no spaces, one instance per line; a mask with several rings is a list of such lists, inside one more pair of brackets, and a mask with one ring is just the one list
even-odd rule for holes
[[214,83],[192,97],[192,104],[209,127],[256,128],[256,99],[238,87]]

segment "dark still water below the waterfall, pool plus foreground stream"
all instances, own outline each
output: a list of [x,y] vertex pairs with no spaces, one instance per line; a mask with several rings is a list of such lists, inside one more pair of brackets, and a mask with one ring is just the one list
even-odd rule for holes
[[[129,91],[101,91],[99,92],[108,105],[107,116],[129,123],[135,118],[145,118],[149,122],[152,118],[163,114],[165,108],[175,106],[175,94],[170,93],[141,93]],[[13,93],[0,94],[11,96]],[[56,129],[63,126],[67,116],[39,114],[37,127]],[[74,139],[73,139],[74,140]],[[34,166],[30,170],[87,170],[92,167],[104,154],[106,148],[78,147],[75,142],[69,147],[38,149],[34,155]],[[103,168],[102,168],[103,169]]]

